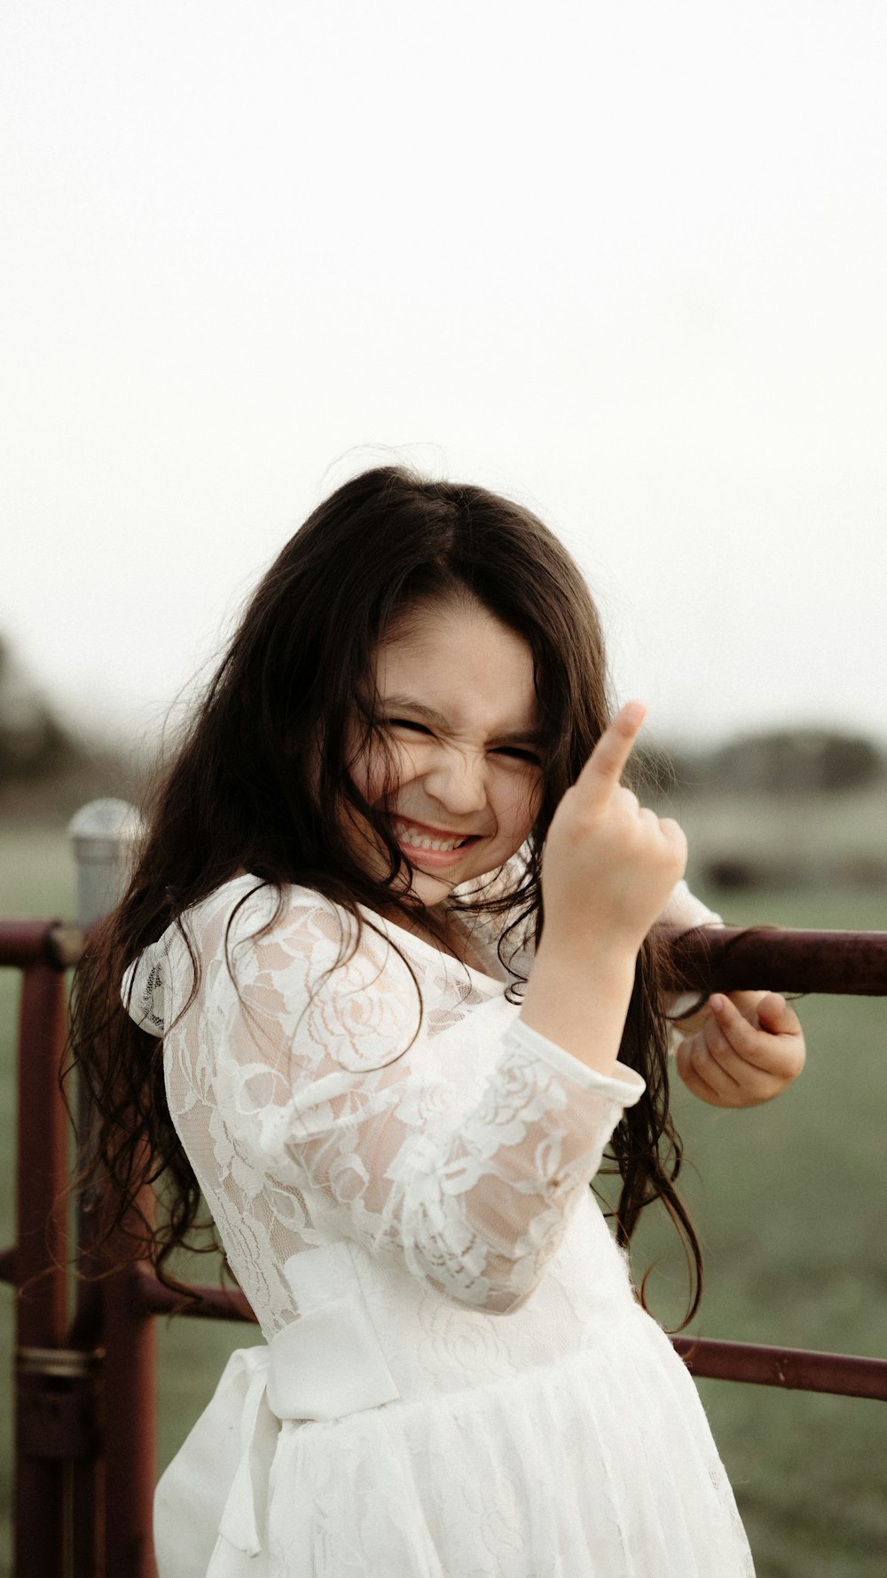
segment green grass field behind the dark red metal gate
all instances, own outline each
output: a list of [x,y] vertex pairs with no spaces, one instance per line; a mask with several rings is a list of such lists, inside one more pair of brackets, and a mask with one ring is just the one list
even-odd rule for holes
[[[693,813],[682,808],[693,841]],[[710,832],[702,828],[701,833]],[[772,828],[769,836],[775,836]],[[887,892],[833,884],[794,892],[699,890],[737,923],[885,929]],[[63,833],[0,828],[0,915],[73,915],[74,873]],[[0,1242],[13,1236],[16,982],[0,972]],[[707,1108],[682,1087],[676,1119],[687,1154],[683,1191],[705,1250],[704,1337],[887,1354],[884,1105],[887,1004],[810,997],[803,1078],[745,1112]],[[655,1218],[636,1237],[634,1267],[655,1261],[653,1313],[683,1307],[683,1259]],[[211,1280],[208,1262],[200,1280]],[[0,1292],[0,1415],[9,1419],[11,1305]],[[253,1329],[159,1324],[159,1464],[207,1403],[227,1354]],[[735,1486],[759,1578],[881,1578],[887,1569],[887,1409],[881,1403],[699,1384]],[[0,1471],[8,1518],[11,1427]],[[8,1528],[0,1573],[8,1573]],[[717,1578],[717,1575],[712,1575]]]

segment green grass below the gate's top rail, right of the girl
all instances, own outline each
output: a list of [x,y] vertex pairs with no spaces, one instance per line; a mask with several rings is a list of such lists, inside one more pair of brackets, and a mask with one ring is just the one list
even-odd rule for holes
[[[728,1112],[676,1092],[682,1177],[705,1255],[701,1337],[887,1356],[884,1005],[800,1005],[808,1067],[778,1101]],[[649,1299],[682,1314],[685,1272],[655,1217],[634,1248]],[[887,1557],[882,1403],[702,1381],[759,1578],[852,1573]]]

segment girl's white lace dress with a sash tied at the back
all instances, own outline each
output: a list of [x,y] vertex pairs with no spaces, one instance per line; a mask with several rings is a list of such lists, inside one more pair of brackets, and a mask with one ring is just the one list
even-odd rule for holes
[[186,917],[188,1008],[175,928],[125,982],[265,1338],[158,1485],[159,1578],[748,1578],[589,1188],[641,1078],[529,1029],[480,922],[488,972],[369,912],[336,967],[344,911],[289,888],[257,937],[254,888]]

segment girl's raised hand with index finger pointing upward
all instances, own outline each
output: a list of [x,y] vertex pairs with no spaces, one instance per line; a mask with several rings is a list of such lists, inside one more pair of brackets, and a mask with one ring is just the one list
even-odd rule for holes
[[660,821],[620,783],[644,716],[641,702],[617,713],[554,813],[541,866],[549,947],[636,953],[683,876],[677,822]]

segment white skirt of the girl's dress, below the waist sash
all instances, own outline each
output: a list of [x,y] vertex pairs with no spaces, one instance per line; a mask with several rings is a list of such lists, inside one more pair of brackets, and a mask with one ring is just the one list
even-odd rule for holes
[[641,1310],[507,1379],[278,1420],[235,1352],[163,1477],[159,1578],[753,1578],[696,1387]]

